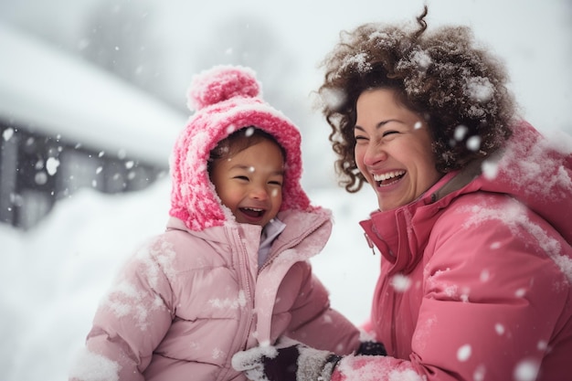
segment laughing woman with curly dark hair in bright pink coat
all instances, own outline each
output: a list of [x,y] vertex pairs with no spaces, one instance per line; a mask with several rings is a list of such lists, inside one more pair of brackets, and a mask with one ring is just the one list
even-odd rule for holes
[[320,89],[341,183],[376,191],[361,225],[387,355],[260,348],[233,359],[251,378],[572,379],[572,144],[518,120],[468,28],[426,15],[342,35]]

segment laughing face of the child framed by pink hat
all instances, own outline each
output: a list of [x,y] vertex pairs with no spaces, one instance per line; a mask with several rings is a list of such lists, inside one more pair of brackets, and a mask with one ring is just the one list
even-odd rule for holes
[[282,203],[284,159],[268,139],[214,161],[211,181],[239,223],[264,227]]

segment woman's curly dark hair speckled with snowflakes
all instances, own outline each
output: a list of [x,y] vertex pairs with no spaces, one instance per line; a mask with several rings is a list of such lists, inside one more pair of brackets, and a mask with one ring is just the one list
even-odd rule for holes
[[427,13],[425,6],[417,28],[368,23],[344,31],[323,60],[320,108],[332,127],[339,184],[350,193],[365,182],[354,157],[355,104],[364,90],[395,90],[397,101],[426,119],[443,174],[493,153],[512,133],[503,63],[477,46],[466,26],[429,32]]

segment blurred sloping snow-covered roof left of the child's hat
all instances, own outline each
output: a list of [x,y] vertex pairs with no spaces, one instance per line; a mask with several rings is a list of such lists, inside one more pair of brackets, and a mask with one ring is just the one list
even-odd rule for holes
[[0,118],[166,165],[186,116],[81,58],[0,24]]

